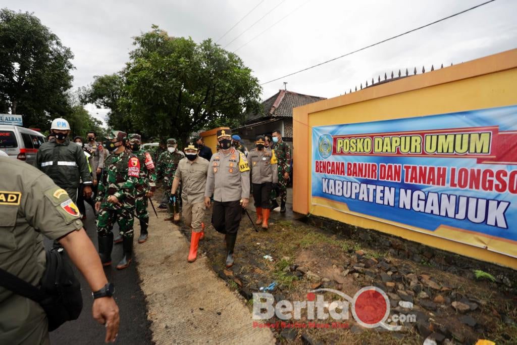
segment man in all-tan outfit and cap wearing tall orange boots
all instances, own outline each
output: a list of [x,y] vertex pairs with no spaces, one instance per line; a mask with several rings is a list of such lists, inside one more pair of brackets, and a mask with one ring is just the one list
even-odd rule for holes
[[203,223],[205,203],[203,197],[206,188],[208,161],[198,155],[199,145],[194,141],[187,142],[184,152],[185,158],[179,161],[176,174],[174,175],[171,195],[176,195],[181,182],[183,186],[181,191],[181,199],[183,199],[181,214],[185,224],[188,224],[192,231],[188,262],[194,262],[197,257],[199,240],[205,236],[205,224]]

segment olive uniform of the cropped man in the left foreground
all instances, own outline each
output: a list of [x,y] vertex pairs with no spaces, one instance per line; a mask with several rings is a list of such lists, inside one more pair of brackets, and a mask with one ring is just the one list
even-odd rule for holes
[[[0,157],[0,267],[38,286],[45,269],[43,236],[58,239],[83,227],[67,192],[29,164]],[[47,344],[38,303],[0,287],[0,344]]]

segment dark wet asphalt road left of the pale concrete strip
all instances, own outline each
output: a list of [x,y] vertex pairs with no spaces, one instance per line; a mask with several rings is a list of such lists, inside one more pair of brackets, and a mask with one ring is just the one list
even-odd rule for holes
[[[86,233],[92,239],[97,248],[97,233],[92,208],[86,205],[87,219],[83,221]],[[151,220],[152,221],[152,220]],[[118,226],[114,227],[114,231]],[[135,232],[134,245],[139,246],[138,230]],[[45,240],[45,246],[51,246],[50,241]],[[143,246],[146,244],[140,244]],[[131,265],[118,271],[115,268],[122,257],[122,244],[116,244],[112,252],[112,265],[105,267],[104,272],[108,280],[115,284],[115,300],[120,310],[120,328],[116,343],[119,344],[150,344],[150,322],[147,321],[146,303],[144,294],[140,289],[140,278],[136,272],[135,261]],[[80,278],[83,291],[83,311],[79,319],[63,324],[50,334],[52,344],[101,344],[104,343],[105,328],[98,324],[92,317],[92,292],[83,276],[77,269],[75,274]]]

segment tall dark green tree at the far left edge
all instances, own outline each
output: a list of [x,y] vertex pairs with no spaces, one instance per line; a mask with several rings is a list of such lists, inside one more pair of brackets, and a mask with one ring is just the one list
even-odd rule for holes
[[70,111],[73,54],[32,13],[0,10],[0,111],[24,126],[49,128]]

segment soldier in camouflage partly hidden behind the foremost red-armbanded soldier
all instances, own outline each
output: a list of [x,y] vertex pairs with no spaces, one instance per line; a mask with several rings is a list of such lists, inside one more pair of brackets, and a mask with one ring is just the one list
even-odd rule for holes
[[147,239],[147,227],[149,224],[147,192],[149,190],[154,192],[156,189],[156,173],[155,163],[150,153],[135,146],[140,146],[141,143],[140,134],[129,134],[131,153],[135,155],[140,162],[140,175],[138,177],[138,184],[135,186],[135,211],[136,218],[140,220],[140,238],[138,242],[144,243]]

